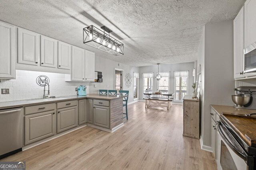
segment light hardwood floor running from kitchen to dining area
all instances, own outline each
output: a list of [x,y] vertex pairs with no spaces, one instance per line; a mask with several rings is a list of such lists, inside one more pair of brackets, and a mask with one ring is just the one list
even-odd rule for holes
[[114,133],[86,126],[0,161],[26,161],[27,169],[36,170],[217,169],[198,139],[182,136],[182,106],[144,105],[129,105],[129,120]]

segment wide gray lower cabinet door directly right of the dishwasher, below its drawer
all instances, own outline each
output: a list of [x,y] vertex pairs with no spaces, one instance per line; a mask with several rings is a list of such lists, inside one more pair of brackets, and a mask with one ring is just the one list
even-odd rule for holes
[[55,111],[25,116],[25,145],[56,134]]

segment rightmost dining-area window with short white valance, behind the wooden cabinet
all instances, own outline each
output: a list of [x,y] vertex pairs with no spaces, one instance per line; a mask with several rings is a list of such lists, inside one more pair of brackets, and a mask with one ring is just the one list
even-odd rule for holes
[[182,101],[188,94],[188,71],[174,72],[174,100]]

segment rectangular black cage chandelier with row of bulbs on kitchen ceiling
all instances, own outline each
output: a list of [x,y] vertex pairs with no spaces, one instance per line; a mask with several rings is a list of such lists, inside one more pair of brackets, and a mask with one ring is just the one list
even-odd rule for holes
[[106,26],[100,28],[104,31],[93,25],[85,27],[83,29],[84,44],[112,55],[124,55],[124,44],[110,36],[112,30]]

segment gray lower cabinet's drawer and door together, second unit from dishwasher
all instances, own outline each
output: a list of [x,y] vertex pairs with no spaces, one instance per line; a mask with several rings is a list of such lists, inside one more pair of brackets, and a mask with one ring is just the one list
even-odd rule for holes
[[77,100],[57,103],[57,133],[78,126]]

